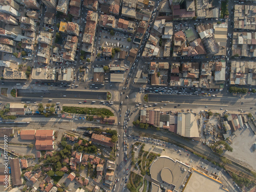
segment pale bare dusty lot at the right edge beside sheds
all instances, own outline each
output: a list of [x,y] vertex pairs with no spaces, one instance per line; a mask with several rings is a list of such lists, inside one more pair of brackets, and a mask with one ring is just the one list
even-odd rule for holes
[[256,171],[255,152],[253,152],[252,144],[256,141],[256,135],[251,129],[239,129],[230,136],[232,140],[233,152],[225,152],[225,156],[241,163],[247,167],[251,167]]

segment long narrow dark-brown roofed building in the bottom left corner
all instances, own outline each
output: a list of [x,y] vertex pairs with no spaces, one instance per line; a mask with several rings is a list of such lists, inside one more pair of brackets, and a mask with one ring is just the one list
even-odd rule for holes
[[19,186],[23,183],[22,170],[20,169],[19,159],[10,159],[12,185]]

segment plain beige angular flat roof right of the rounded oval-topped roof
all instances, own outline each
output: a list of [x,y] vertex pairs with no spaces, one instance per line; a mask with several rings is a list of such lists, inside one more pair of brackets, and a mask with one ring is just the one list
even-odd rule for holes
[[207,192],[219,192],[219,191],[228,191],[221,187],[222,183],[216,179],[210,178],[205,174],[198,172],[194,169],[194,172],[190,175],[187,184],[183,192],[198,192],[198,191],[207,191]]

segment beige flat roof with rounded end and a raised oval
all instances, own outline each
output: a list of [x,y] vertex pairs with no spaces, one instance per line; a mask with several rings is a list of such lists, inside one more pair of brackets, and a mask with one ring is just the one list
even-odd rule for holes
[[159,183],[174,185],[178,190],[184,184],[189,166],[167,156],[158,157],[150,167],[151,178]]

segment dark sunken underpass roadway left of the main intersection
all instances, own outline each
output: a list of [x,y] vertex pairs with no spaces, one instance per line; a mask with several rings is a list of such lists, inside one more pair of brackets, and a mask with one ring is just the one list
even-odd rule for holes
[[[60,90],[17,90],[18,97],[38,97],[38,98],[67,98],[67,99],[101,99],[106,100],[106,92],[88,91],[60,91]],[[25,98],[24,98],[25,99]]]

